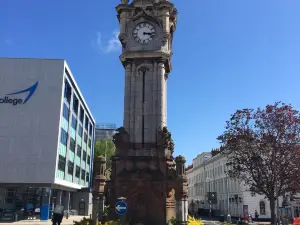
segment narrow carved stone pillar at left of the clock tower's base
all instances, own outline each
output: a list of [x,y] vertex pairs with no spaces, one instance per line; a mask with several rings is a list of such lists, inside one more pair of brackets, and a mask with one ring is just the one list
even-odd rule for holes
[[95,177],[93,182],[93,211],[92,211],[92,220],[93,225],[96,224],[98,216],[102,216],[104,213],[104,187],[106,177],[105,173],[105,163],[106,160],[104,157],[97,157],[95,160]]

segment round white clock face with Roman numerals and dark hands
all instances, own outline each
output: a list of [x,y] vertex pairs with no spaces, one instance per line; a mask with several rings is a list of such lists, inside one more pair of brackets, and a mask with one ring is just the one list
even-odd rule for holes
[[155,37],[155,27],[148,23],[142,22],[133,29],[133,38],[140,44],[148,44]]

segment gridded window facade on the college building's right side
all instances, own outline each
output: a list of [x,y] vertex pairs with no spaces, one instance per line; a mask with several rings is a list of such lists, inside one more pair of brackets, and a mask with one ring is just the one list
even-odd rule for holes
[[56,178],[89,186],[94,126],[83,103],[67,79]]

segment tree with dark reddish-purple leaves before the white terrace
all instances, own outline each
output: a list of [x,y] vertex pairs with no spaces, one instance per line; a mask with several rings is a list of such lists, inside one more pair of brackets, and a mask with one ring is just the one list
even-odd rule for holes
[[218,137],[231,178],[244,181],[253,195],[270,201],[275,224],[275,202],[300,191],[300,114],[280,102],[257,110],[237,110]]

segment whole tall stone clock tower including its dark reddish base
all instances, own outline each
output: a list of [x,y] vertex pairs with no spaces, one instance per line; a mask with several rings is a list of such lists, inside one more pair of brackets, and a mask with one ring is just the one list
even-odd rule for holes
[[167,123],[167,80],[177,10],[168,0],[122,0],[116,7],[125,68],[124,125],[106,184],[109,217],[125,197],[129,224],[187,224],[185,159],[174,160]]

